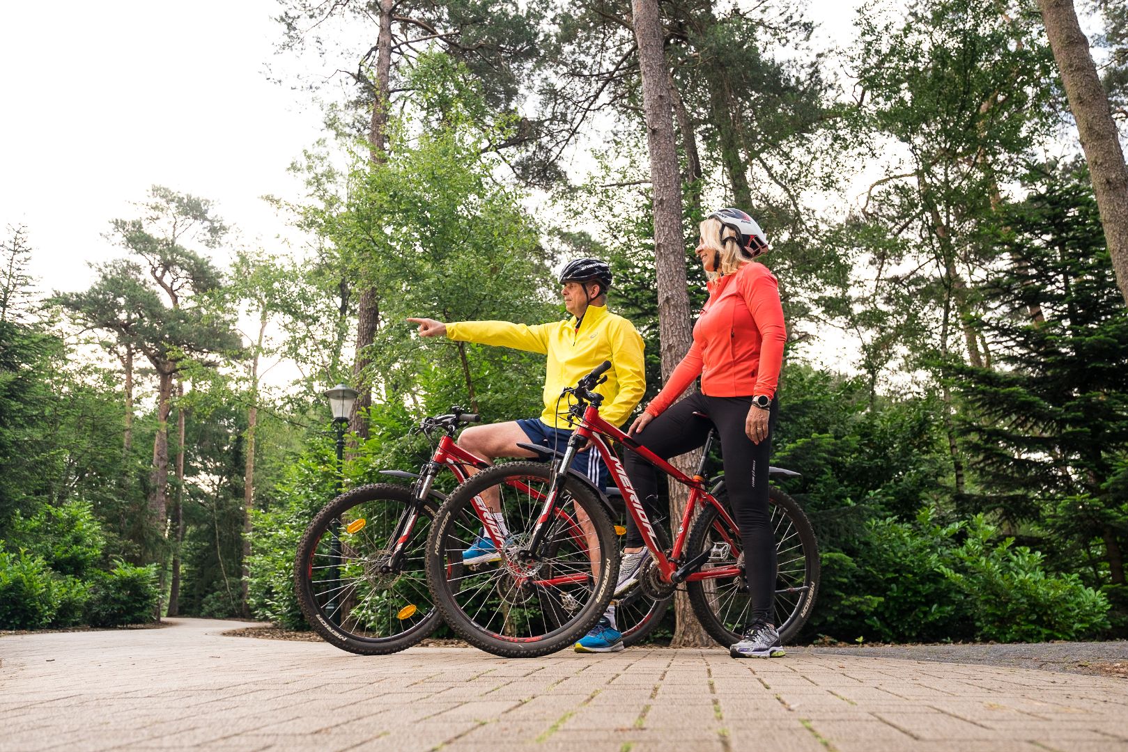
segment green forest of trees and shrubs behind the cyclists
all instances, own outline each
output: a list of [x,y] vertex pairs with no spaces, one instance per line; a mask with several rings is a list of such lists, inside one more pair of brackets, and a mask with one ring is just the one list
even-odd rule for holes
[[[553,271],[593,255],[646,339],[649,398],[668,372],[655,266],[684,268],[697,310],[696,223],[735,205],[767,230],[788,322],[774,463],[802,472],[786,488],[822,550],[807,636],[1128,634],[1128,282],[1039,7],[873,2],[827,48],[800,6],[660,2],[644,87],[646,5],[285,0],[283,59],[347,61],[344,97],[283,77],[324,110],[302,196],[268,198],[300,242],[248,244],[206,197],[139,187],[106,218],[120,257],[58,291],[29,273],[36,229],[9,225],[0,628],[299,627],[293,550],[337,481],[326,387],[364,397],[347,484],[416,466],[408,428],[452,404],[535,415],[541,359],[403,319],[559,318]],[[1128,10],[1077,10],[1122,143]]]

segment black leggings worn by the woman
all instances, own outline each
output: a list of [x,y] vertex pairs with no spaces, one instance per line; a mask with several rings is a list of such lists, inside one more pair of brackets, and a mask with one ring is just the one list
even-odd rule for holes
[[[705,443],[711,427],[716,427],[724,459],[724,480],[740,539],[744,547],[744,570],[751,594],[750,622],[774,622],[776,552],[768,512],[768,454],[772,451],[770,426],[777,402],[772,401],[768,437],[754,444],[744,433],[744,419],[752,406],[750,397],[706,397],[696,393],[677,402],[650,422],[638,434],[640,443],[663,460],[697,449]],[[702,418],[694,413],[705,413]],[[654,519],[658,501],[658,469],[632,451],[626,451],[626,471]],[[660,515],[658,515],[660,516]],[[628,548],[643,545],[631,515],[627,515]]]

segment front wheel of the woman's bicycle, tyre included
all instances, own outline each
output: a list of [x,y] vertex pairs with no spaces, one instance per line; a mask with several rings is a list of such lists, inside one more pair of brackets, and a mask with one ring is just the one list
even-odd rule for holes
[[[522,561],[550,485],[552,467],[512,462],[484,470],[439,507],[426,546],[426,576],[447,623],[466,642],[504,657],[554,653],[583,636],[611,600],[618,543],[607,512],[592,493],[569,479],[548,524],[541,559]],[[505,545],[496,559],[462,563],[484,532],[476,495],[501,501]]]

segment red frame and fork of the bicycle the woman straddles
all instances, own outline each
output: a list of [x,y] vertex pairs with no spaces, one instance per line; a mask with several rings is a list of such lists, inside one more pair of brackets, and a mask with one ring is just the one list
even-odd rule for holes
[[[678,524],[678,531],[675,537],[673,548],[670,549],[670,555],[667,556],[666,551],[661,549],[658,545],[658,537],[654,533],[654,528],[650,522],[650,517],[646,515],[646,510],[643,507],[642,502],[638,498],[638,494],[635,492],[634,486],[631,485],[631,478],[627,477],[626,470],[623,467],[623,462],[615,452],[607,445],[603,441],[603,436],[608,436],[616,441],[623,443],[624,446],[637,453],[644,460],[662,470],[670,477],[672,477],[678,483],[689,487],[689,501],[686,504],[685,513],[681,516],[681,521]],[[678,470],[676,467],[663,460],[662,458],[654,454],[652,451],[640,444],[636,440],[632,439],[618,427],[611,425],[605,421],[599,415],[599,408],[594,405],[588,405],[583,413],[583,418],[580,422],[579,427],[572,434],[569,440],[567,448],[564,451],[564,455],[559,459],[559,471],[553,480],[553,485],[549,488],[548,497],[545,499],[544,508],[541,510],[540,517],[534,528],[532,537],[529,541],[528,556],[530,558],[537,558],[538,549],[544,538],[544,523],[552,515],[553,510],[556,504],[556,496],[563,487],[563,479],[567,472],[569,466],[572,463],[572,458],[575,455],[579,449],[580,442],[582,440],[588,440],[592,442],[596,450],[599,451],[600,457],[607,465],[608,469],[611,471],[611,477],[615,479],[615,485],[618,486],[619,492],[623,494],[623,499],[625,502],[626,508],[631,513],[631,517],[634,520],[638,532],[642,534],[643,543],[650,549],[654,557],[654,563],[661,573],[662,580],[664,582],[672,582],[675,584],[687,581],[700,581],[700,580],[713,580],[720,577],[735,577],[740,574],[739,567],[716,567],[707,572],[691,572],[696,568],[688,566],[695,563],[682,563],[681,554],[685,548],[686,537],[689,533],[689,523],[691,522],[697,508],[704,507],[706,505],[712,505],[716,508],[717,514],[726,523],[728,528],[719,528],[721,537],[735,548],[737,541],[730,539],[730,530],[739,530],[735,521],[729,514],[729,511],[723,504],[716,501],[716,498],[705,489],[705,478],[700,475],[694,477],[687,476],[685,472]],[[704,561],[696,563],[697,566]],[[680,566],[679,566],[680,565]],[[682,568],[688,568],[690,572],[682,572]]]

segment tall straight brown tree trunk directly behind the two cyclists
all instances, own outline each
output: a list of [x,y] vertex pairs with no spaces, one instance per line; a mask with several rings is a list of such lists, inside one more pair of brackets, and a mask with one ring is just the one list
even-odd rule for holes
[[[646,118],[646,143],[650,150],[650,179],[654,192],[654,266],[658,272],[658,322],[661,337],[662,378],[668,379],[673,366],[689,351],[689,292],[686,289],[686,246],[681,236],[681,189],[678,175],[678,151],[673,140],[673,117],[670,104],[670,78],[662,52],[662,21],[656,0],[634,0],[634,33],[642,70],[643,110]],[[697,452],[673,460],[673,466],[691,475]],[[688,492],[680,484],[670,484],[671,519],[680,520]],[[691,647],[711,645],[712,640],[697,623],[685,593],[675,598],[677,627],[672,645]]]

